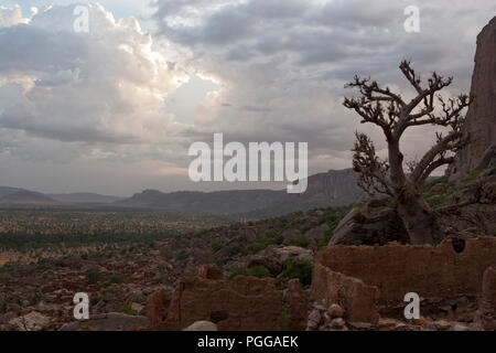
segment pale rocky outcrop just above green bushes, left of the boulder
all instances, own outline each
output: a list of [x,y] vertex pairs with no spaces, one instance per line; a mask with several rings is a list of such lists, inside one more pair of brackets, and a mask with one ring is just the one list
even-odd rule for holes
[[269,246],[247,260],[247,268],[263,266],[270,272],[278,275],[282,271],[289,258],[312,260],[313,253],[298,246]]

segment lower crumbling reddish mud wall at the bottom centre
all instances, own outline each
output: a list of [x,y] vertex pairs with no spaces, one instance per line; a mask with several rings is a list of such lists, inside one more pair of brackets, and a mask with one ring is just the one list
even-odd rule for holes
[[196,321],[214,322],[219,331],[306,327],[308,299],[299,280],[289,288],[289,312],[283,310],[283,292],[273,279],[238,276],[228,280],[212,266],[202,266],[196,277],[180,280],[171,300],[162,297],[159,291],[150,298],[149,330],[183,330]]

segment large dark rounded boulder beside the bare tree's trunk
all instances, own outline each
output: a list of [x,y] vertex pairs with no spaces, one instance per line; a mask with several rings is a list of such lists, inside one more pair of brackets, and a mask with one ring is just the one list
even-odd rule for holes
[[334,229],[330,245],[384,245],[389,242],[409,243],[407,229],[387,200],[370,200],[353,208]]

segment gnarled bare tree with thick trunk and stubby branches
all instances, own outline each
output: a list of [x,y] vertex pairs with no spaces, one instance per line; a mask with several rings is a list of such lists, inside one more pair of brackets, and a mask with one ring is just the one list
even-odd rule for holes
[[[362,117],[362,124],[379,126],[388,143],[388,160],[381,161],[373,141],[364,133],[356,133],[353,149],[353,168],[359,174],[358,184],[370,194],[388,194],[397,201],[398,213],[408,231],[411,244],[436,244],[444,234],[429,204],[423,200],[420,186],[439,167],[453,162],[453,152],[467,143],[463,133],[462,111],[472,103],[468,95],[445,100],[439,92],[453,82],[435,72],[422,85],[410,62],[399,66],[413,86],[416,97],[409,101],[392,93],[389,87],[379,87],[370,78],[355,76],[345,87],[359,89],[359,96],[345,98],[344,106]],[[400,139],[409,127],[434,125],[448,128],[449,132],[436,133],[435,145],[418,162],[407,163],[400,151]],[[403,163],[409,172],[403,170]]]

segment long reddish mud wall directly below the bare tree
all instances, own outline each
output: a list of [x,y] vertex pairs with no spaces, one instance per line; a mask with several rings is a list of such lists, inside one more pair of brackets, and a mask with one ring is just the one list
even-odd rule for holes
[[[435,248],[399,244],[330,246],[314,259],[312,295],[322,298],[325,292],[324,285],[319,284],[326,278],[323,268],[377,287],[381,304],[402,302],[407,292],[424,298],[481,295],[483,275],[489,266],[496,266],[496,237],[493,236],[467,239],[460,254],[451,239]],[[348,287],[344,286],[343,290]]]

